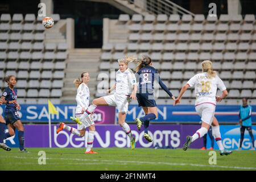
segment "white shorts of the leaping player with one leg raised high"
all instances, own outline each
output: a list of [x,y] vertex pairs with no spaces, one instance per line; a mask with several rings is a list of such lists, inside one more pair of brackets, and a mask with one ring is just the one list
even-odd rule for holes
[[117,106],[118,113],[127,113],[129,105],[127,96],[112,94],[103,98],[109,106]]

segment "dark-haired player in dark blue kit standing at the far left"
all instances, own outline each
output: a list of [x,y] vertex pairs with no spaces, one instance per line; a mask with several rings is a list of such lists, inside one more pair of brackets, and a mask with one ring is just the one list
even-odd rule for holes
[[14,88],[16,85],[16,77],[13,75],[7,76],[5,81],[8,83],[8,86],[3,91],[1,97],[3,104],[6,104],[5,121],[9,129],[9,133],[5,134],[5,139],[15,135],[15,128],[18,129],[19,151],[27,153],[27,150],[24,148],[24,127],[17,113],[20,106],[17,103],[17,89]]

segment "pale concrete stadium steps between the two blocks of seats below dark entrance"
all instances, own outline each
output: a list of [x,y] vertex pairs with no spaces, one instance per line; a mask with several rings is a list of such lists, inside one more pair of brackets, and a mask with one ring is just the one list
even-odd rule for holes
[[80,78],[82,72],[90,73],[90,99],[94,98],[97,86],[98,67],[100,65],[101,49],[71,49],[67,59],[65,70],[63,97],[61,104],[74,104],[76,87],[73,84],[75,78]]

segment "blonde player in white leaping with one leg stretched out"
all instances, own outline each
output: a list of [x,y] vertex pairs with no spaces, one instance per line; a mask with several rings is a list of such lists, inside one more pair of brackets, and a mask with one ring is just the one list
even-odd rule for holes
[[106,93],[111,93],[112,90],[115,90],[114,94],[94,99],[92,105],[85,110],[82,117],[72,119],[75,122],[79,122],[79,120],[87,117],[100,105],[116,106],[118,108],[118,123],[130,138],[131,150],[135,148],[135,137],[131,134],[131,129],[125,122],[125,119],[129,101],[137,99],[137,81],[133,71],[128,68],[128,63],[134,59],[135,57],[126,57],[118,60],[119,69],[115,74],[115,84],[112,88],[106,90]]

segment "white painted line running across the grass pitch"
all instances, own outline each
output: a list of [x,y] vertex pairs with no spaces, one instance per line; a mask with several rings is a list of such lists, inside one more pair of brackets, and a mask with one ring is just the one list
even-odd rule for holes
[[[14,158],[20,159],[38,159],[14,156]],[[164,164],[168,166],[194,166],[194,167],[212,167],[212,168],[228,168],[228,169],[250,169],[256,170],[255,167],[239,167],[239,166],[217,166],[217,165],[204,165],[204,164],[188,164],[188,163],[165,163],[165,162],[139,162],[139,161],[124,161],[124,160],[98,160],[98,159],[73,159],[73,158],[46,158],[48,160],[77,160],[77,161],[89,161],[89,162],[108,162],[108,163],[134,163],[134,164]]]

